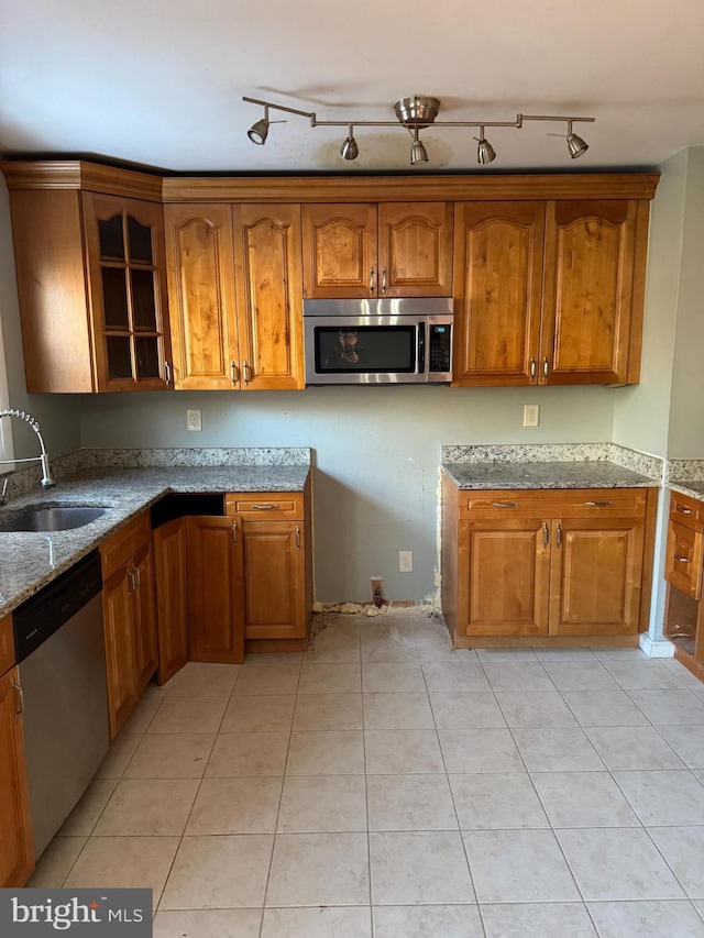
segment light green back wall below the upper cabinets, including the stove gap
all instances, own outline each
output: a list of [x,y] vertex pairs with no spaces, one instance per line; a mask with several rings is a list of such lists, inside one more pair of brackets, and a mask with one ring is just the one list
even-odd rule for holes
[[[441,444],[607,442],[615,394],[585,388],[341,387],[305,391],[108,395],[84,399],[85,446],[310,446],[316,593],[365,599],[435,589]],[[540,426],[522,427],[525,404]],[[202,410],[202,432],[186,410]],[[414,572],[398,572],[398,551]]]

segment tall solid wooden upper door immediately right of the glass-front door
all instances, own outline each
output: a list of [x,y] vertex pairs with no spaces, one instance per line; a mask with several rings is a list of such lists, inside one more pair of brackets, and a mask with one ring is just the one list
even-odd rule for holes
[[165,220],[175,386],[231,390],[239,383],[232,210],[166,206]]

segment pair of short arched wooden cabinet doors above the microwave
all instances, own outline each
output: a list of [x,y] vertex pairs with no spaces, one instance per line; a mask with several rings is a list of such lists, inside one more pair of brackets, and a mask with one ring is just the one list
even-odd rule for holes
[[452,203],[304,205],[307,299],[452,291]]

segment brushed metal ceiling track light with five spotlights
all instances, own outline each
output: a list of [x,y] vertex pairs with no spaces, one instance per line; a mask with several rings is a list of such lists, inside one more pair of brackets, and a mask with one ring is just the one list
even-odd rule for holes
[[405,128],[413,137],[410,145],[410,165],[421,166],[428,163],[428,153],[424,146],[418,131],[425,128],[479,128],[480,135],[474,137],[479,145],[476,148],[476,162],[480,166],[485,166],[496,158],[496,151],[484,135],[485,128],[514,128],[520,130],[525,121],[564,121],[568,125],[566,140],[568,152],[572,159],[576,159],[583,153],[586,153],[588,146],[572,131],[572,124],[578,122],[594,123],[594,118],[575,118],[570,115],[548,115],[548,114],[516,114],[514,121],[436,121],[440,111],[440,101],[438,98],[429,98],[422,95],[415,95],[410,98],[402,98],[396,101],[394,110],[396,112],[395,121],[319,121],[315,111],[300,111],[297,108],[286,108],[283,104],[273,104],[271,101],[260,101],[256,98],[242,98],[250,104],[260,104],[264,108],[264,117],[256,121],[248,131],[248,136],[252,143],[262,146],[266,142],[270,124],[283,123],[282,121],[270,121],[270,108],[276,111],[283,111],[287,114],[298,114],[301,118],[308,118],[310,126],[329,126],[329,128],[348,128],[348,137],[340,147],[340,156],[343,159],[356,159],[359,155],[359,146],[354,139],[353,129],[360,126],[372,128]]

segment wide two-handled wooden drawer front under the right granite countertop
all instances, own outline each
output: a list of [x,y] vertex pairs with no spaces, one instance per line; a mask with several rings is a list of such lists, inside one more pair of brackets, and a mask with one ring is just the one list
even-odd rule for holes
[[460,492],[460,518],[640,518],[647,494],[647,488]]

